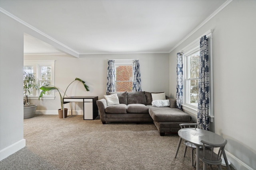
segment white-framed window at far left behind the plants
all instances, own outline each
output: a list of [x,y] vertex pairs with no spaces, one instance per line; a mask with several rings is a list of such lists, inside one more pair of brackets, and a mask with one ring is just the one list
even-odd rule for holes
[[[54,61],[24,61],[25,72],[36,73],[39,86],[44,86],[46,84],[54,85]],[[30,99],[38,99],[40,90],[33,90],[28,94]],[[47,92],[44,95],[44,99],[54,99],[54,92]]]

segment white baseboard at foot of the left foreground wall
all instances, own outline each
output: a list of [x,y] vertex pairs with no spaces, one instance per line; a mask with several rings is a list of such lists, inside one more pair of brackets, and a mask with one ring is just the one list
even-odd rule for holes
[[4,158],[7,158],[11,154],[14,154],[18,150],[24,148],[26,146],[26,139],[22,139],[9,147],[6,147],[2,150],[0,150],[0,160],[3,160]]

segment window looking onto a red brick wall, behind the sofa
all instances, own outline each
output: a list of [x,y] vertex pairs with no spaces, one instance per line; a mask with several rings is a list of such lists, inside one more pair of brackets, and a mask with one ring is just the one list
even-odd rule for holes
[[115,60],[115,92],[132,92],[133,61]]

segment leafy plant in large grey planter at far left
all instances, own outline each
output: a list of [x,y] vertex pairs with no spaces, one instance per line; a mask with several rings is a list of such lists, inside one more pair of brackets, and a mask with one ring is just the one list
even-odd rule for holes
[[37,105],[30,105],[28,103],[28,94],[34,88],[38,90],[39,86],[36,83],[36,74],[35,73],[27,73],[23,72],[23,91],[25,95],[25,102],[24,103],[24,119],[28,119],[34,117],[36,114],[36,107]]

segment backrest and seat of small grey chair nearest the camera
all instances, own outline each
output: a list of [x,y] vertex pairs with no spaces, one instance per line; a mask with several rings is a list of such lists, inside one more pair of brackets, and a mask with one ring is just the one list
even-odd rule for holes
[[[203,149],[204,149],[203,161],[208,162],[209,164],[220,163],[222,161],[221,160],[222,152],[228,141],[225,139],[223,143],[220,143],[218,145],[212,144],[204,140],[201,140],[201,142],[203,143]],[[218,153],[214,152],[214,148],[219,148]]]

